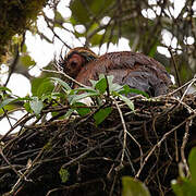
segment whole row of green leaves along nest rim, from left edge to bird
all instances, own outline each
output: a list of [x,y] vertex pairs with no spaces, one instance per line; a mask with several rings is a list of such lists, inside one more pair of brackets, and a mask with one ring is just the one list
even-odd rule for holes
[[[41,113],[41,110],[47,108],[48,105],[57,106],[58,101],[64,99],[69,101],[71,109],[69,110],[69,113],[66,113],[66,117],[71,115],[75,111],[77,111],[77,113],[83,117],[90,112],[95,112],[88,105],[81,102],[84,98],[89,98],[94,100],[94,105],[96,105],[96,108],[98,109],[94,114],[95,122],[98,125],[111,113],[111,105],[113,99],[119,98],[120,100],[124,101],[131,110],[134,111],[133,101],[124,95],[127,96],[131,93],[145,95],[145,93],[140,90],[132,89],[127,86],[120,86],[114,84],[112,81],[112,75],[106,77],[101,74],[98,81],[91,81],[91,87],[72,89],[62,79],[58,77],[51,77],[50,79],[44,79],[42,83],[39,84],[37,90],[34,91],[33,96],[26,96],[24,98],[12,95],[11,90],[7,87],[1,87],[0,90],[2,93],[1,95],[3,95],[3,100],[0,105],[0,109],[10,103],[23,101],[26,111],[34,113],[38,118]],[[59,84],[63,91],[54,91],[56,85],[53,83]],[[5,91],[5,94],[3,94],[3,91]]]

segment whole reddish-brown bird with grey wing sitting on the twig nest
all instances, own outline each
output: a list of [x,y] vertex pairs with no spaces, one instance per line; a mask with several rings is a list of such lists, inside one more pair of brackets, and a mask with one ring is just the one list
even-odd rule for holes
[[[71,49],[59,63],[63,72],[78,83],[91,86],[100,74],[113,75],[113,83],[128,85],[150,97],[164,95],[172,85],[166,68],[155,59],[139,52],[118,51],[97,56],[87,47]],[[73,84],[77,88],[77,84]]]

